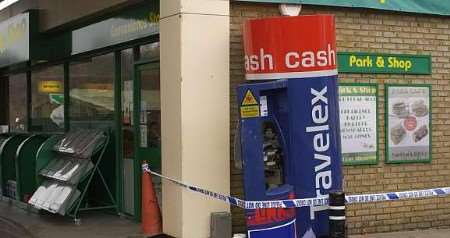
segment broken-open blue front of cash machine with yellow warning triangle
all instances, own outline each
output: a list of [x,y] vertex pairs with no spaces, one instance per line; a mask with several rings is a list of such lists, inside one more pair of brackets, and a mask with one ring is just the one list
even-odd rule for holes
[[[286,166],[289,162],[287,83],[280,80],[238,88],[246,200],[295,197],[294,187],[286,183],[293,179],[293,173],[287,170],[290,167]],[[250,238],[295,237],[295,216],[295,208],[249,209],[246,211],[248,235]],[[273,227],[278,229],[269,229]]]

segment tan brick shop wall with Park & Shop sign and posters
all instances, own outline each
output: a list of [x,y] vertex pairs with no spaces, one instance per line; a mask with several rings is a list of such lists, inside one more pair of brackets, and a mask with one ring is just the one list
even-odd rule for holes
[[[288,11],[289,8],[292,11]],[[448,186],[449,154],[442,145],[449,143],[448,123],[444,119],[449,117],[446,103],[450,92],[449,5],[437,0],[408,3],[389,0],[232,1],[232,87],[249,83],[248,79],[255,80],[243,72],[248,70],[245,67],[248,62],[255,70],[259,63],[246,58],[243,47],[246,32],[242,25],[253,19],[277,19],[289,12],[300,12],[301,16],[335,16],[342,183],[346,195]],[[309,35],[299,42],[307,40],[310,40]],[[273,52],[264,48],[264,54]],[[261,57],[264,54],[261,53]],[[289,59],[294,61],[297,53],[292,55]],[[240,98],[232,97],[231,104],[240,105]],[[231,112],[232,124],[241,121],[239,116],[242,116],[239,108]],[[237,182],[246,179],[243,171],[231,169],[232,181],[236,181],[232,183],[231,194],[237,197],[247,195],[244,191],[248,180],[244,181],[244,186]],[[348,233],[448,226],[449,210],[444,205],[448,203],[448,197],[439,197],[351,204],[346,211]],[[246,231],[244,211],[233,207],[232,213],[233,231]]]

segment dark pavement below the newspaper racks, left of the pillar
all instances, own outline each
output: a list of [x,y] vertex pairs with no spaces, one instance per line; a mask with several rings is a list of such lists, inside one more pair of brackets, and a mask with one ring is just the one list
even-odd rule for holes
[[81,224],[70,217],[37,213],[0,201],[1,238],[144,238],[140,224],[104,212],[81,213]]

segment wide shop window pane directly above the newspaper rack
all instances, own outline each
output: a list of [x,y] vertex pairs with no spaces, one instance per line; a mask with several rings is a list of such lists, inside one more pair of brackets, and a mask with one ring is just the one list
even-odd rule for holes
[[69,72],[71,128],[111,126],[114,116],[114,54],[72,62]]

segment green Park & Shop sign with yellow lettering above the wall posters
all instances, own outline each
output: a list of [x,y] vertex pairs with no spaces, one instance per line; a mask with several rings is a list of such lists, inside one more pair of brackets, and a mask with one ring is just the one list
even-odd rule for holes
[[338,53],[339,73],[431,74],[431,56]]

